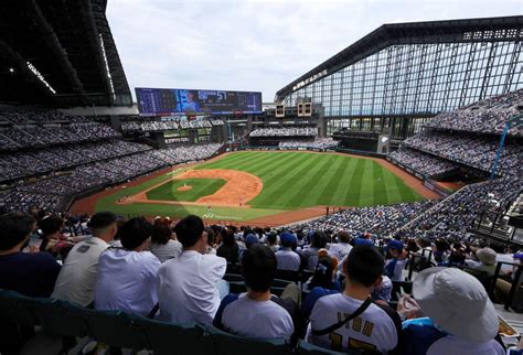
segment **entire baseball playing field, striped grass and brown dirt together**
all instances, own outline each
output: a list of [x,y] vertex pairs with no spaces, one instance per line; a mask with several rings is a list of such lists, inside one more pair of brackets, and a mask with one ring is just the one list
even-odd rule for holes
[[[416,179],[384,160],[244,151],[173,166],[88,198],[94,211],[173,217],[198,214],[206,219],[256,223],[310,218],[324,214],[327,206],[387,205],[427,197],[430,193]],[[82,201],[75,207],[82,207]]]

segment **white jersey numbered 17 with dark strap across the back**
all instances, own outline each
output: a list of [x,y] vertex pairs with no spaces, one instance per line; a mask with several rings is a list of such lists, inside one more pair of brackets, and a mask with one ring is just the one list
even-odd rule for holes
[[[310,327],[324,330],[354,313],[363,301],[343,293],[318,300],[310,315]],[[399,319],[397,320],[399,322]],[[371,303],[360,316],[327,335],[308,334],[308,342],[334,351],[362,348],[382,353],[394,349],[398,343],[398,326],[387,312]]]

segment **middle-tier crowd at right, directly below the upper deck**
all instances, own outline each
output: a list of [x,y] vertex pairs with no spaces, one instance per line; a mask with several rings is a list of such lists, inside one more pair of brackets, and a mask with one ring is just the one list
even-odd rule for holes
[[[490,172],[498,153],[499,139],[472,133],[456,135],[437,130],[425,130],[406,139],[403,144]],[[498,162],[498,172],[517,175],[522,152],[522,146],[519,142],[505,142],[503,153]]]

